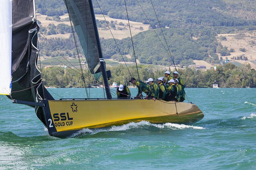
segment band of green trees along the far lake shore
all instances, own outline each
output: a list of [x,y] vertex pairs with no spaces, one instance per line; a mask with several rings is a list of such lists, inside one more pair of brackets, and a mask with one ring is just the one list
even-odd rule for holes
[[[128,68],[132,77],[137,78],[136,67],[130,66]],[[142,81],[148,78],[156,80],[156,78],[164,76],[163,72],[165,71],[145,65],[139,65],[138,70]],[[84,87],[81,75],[76,71],[68,68],[64,70],[61,67],[45,68],[42,71],[44,85],[52,87]],[[184,70],[179,69],[178,72],[187,87],[212,87],[212,83],[215,80],[219,83],[219,87],[256,87],[256,71],[251,69],[249,64],[237,67],[234,64],[227,63],[217,66],[216,71],[213,68],[206,71],[186,68]],[[88,86],[88,74],[86,72],[84,74],[86,85]],[[117,84],[131,85],[129,83],[131,76],[124,65],[112,67],[111,74],[110,84],[116,82]],[[93,81],[90,75],[90,84],[92,83],[97,82]]]

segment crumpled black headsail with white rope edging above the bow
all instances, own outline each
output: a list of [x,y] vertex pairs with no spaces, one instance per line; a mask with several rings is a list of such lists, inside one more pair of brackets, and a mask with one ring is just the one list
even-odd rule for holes
[[[12,1],[12,92],[9,98],[29,102],[54,100],[44,88],[37,68],[37,31],[35,1]],[[44,123],[42,107],[35,107],[37,117]]]

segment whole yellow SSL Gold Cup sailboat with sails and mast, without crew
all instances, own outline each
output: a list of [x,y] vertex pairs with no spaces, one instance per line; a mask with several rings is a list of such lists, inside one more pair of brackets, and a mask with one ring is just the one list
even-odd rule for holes
[[[100,65],[106,98],[54,100],[37,67],[39,47],[35,0],[2,0],[0,9],[0,94],[13,103],[33,107],[54,137],[68,137],[84,128],[105,128],[129,122],[193,124],[204,117],[193,103],[114,99],[91,0],[64,0],[83,48],[89,71]],[[39,60],[40,61],[40,60]],[[97,109],[96,109],[97,108]],[[161,109],[159,109],[161,108]]]

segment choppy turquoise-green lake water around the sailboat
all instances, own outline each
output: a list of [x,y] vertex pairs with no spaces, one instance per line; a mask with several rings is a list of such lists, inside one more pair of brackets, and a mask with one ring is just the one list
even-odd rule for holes
[[[51,90],[85,97],[84,89]],[[66,139],[49,136],[33,108],[0,96],[0,169],[256,169],[256,89],[186,92],[204,112],[193,126],[129,123]]]

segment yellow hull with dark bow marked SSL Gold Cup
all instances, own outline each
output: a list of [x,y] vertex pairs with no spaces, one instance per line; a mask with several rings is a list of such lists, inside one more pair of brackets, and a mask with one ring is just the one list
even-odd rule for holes
[[[48,101],[48,102],[47,102]],[[192,124],[204,117],[195,105],[163,100],[45,100],[49,134],[66,136],[84,128],[104,128],[129,122]],[[57,132],[65,132],[59,133]],[[60,135],[61,134],[61,135]]]

